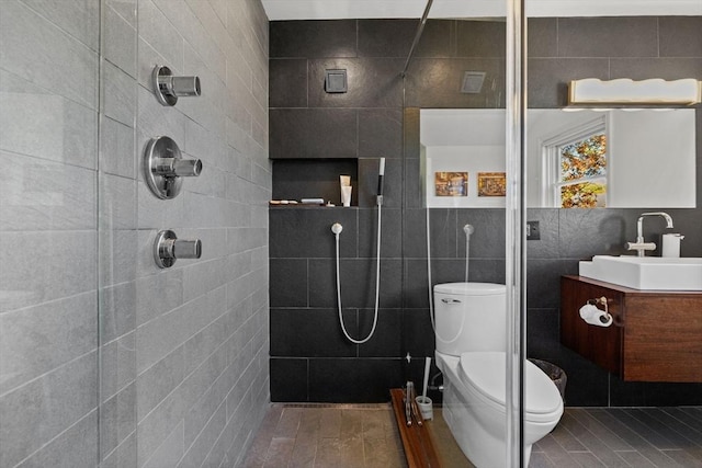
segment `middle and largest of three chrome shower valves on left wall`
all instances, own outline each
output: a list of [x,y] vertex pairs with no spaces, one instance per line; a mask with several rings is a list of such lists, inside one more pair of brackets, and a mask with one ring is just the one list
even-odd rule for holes
[[152,138],[146,146],[144,179],[159,198],[173,198],[183,184],[181,178],[197,176],[201,171],[202,161],[183,159],[180,148],[169,137]]

